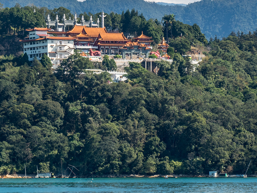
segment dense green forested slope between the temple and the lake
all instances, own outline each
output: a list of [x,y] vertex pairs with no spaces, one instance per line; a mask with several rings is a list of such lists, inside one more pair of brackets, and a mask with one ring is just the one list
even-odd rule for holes
[[45,55],[1,56],[0,173],[243,174],[252,160],[256,174],[256,31],[207,46],[198,67],[178,53],[158,75],[131,62],[120,83],[79,55],[56,72]]

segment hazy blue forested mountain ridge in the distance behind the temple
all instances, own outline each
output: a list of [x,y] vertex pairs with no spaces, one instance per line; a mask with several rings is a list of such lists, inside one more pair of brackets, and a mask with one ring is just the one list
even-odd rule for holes
[[193,25],[196,23],[207,38],[217,35],[218,38],[227,37],[231,31],[248,33],[257,28],[257,1],[254,0],[202,0],[181,5],[160,5],[144,0],[8,0],[1,2],[3,7],[13,7],[16,3],[21,6],[36,5],[48,9],[65,7],[72,14],[83,12],[105,13],[138,10],[146,19],[157,18],[161,21],[164,14],[176,15],[176,20]]

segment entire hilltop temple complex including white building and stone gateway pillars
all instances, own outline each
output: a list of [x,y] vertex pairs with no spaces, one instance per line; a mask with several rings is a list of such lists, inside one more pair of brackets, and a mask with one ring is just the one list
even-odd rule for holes
[[[40,60],[45,53],[51,59],[54,68],[57,68],[64,58],[74,54],[74,49],[81,49],[84,56],[87,53],[97,52],[98,55],[120,54],[123,59],[148,57],[152,48],[150,43],[153,42],[151,37],[142,32],[140,36],[129,40],[123,33],[108,33],[104,27],[104,12],[100,17],[102,18],[101,28],[99,19],[98,24],[93,24],[92,17],[89,23],[85,23],[82,16],[81,24],[78,24],[76,15],[74,20],[70,18],[66,20],[64,14],[63,23],[58,23],[58,16],[55,21],[51,21],[48,16],[47,28],[26,29],[29,36],[21,40],[24,53],[27,53],[30,61],[34,57]],[[64,31],[67,25],[74,25],[74,27]],[[55,26],[57,30],[53,31],[51,26]]]

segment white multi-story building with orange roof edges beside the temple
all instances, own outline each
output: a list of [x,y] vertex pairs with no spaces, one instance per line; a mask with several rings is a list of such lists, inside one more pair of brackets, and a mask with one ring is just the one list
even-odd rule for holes
[[53,64],[53,68],[57,68],[64,58],[74,54],[74,40],[77,37],[56,37],[47,34],[49,28],[32,28],[26,29],[29,36],[23,42],[23,53],[27,53],[29,61],[33,61],[34,57],[41,60],[46,54]]

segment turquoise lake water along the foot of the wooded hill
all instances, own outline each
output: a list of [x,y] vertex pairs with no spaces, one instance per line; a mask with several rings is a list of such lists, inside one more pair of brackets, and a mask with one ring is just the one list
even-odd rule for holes
[[0,179],[0,193],[245,193],[257,178],[64,178]]

